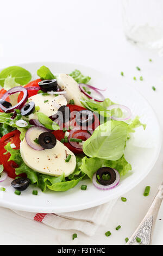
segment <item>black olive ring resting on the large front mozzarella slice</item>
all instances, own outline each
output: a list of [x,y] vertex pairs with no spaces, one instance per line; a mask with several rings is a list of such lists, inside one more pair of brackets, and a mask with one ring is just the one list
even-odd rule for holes
[[51,132],[42,132],[39,135],[39,144],[44,149],[52,149],[57,144],[57,139]]

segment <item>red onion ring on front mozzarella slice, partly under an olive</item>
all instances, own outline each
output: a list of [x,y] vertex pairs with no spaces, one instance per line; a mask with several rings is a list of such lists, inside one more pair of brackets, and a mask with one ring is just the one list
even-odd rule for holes
[[30,133],[33,131],[40,131],[41,133],[43,133],[43,132],[48,132],[48,130],[42,126],[32,126],[27,130],[26,136],[25,136],[26,142],[30,148],[35,150],[44,150],[44,148],[42,148],[39,144],[36,144],[34,141],[32,141]]

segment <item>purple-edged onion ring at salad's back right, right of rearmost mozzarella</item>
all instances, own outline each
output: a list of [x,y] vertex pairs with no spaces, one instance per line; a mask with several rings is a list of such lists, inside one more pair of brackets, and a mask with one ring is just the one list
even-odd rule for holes
[[[92,93],[95,94],[95,97],[92,97],[89,93],[85,92],[83,87],[91,89]],[[89,84],[84,84],[84,83],[79,83],[79,89],[81,90],[82,93],[84,93],[90,99],[93,99],[93,100],[98,101],[98,102],[102,102],[102,101],[105,100],[105,97],[102,95],[102,93],[99,92],[99,90],[102,90],[102,89],[98,89],[96,87],[93,87],[93,86],[90,86]],[[104,90],[106,90],[106,89],[104,89]],[[98,95],[97,99],[96,99],[96,95]]]

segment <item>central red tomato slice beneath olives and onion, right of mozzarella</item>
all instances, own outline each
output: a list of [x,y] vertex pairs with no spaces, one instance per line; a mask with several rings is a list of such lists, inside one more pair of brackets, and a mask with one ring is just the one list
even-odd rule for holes
[[[84,110],[86,108],[84,107],[80,107],[80,106],[77,106],[77,105],[67,105],[67,107],[70,108],[70,112],[72,113],[73,111],[81,111],[81,110]],[[89,125],[88,127],[92,130],[95,130],[97,126],[99,126],[99,119],[97,117],[96,114],[94,114],[94,117],[95,117],[95,121],[93,123],[93,125]],[[70,119],[70,123],[68,123],[68,125],[66,126],[66,124],[64,125],[64,127],[67,127],[68,126],[73,126],[73,127],[80,127],[77,123],[76,123],[76,115],[72,116],[71,119]],[[55,120],[54,120],[55,121]],[[70,131],[70,130],[68,130]],[[62,130],[58,130],[58,131],[53,131],[52,132],[55,137],[58,139],[58,141],[61,141],[62,138],[64,138],[65,136],[65,132],[63,132]],[[81,149],[77,149],[77,148],[74,148],[72,147],[72,145],[70,143],[64,143],[64,145],[70,149],[74,154],[81,154]]]

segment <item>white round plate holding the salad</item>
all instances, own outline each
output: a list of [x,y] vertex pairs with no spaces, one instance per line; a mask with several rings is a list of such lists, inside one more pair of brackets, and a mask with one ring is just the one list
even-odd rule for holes
[[[97,70],[85,66],[70,63],[29,63],[22,64],[23,68],[29,70],[33,79],[37,78],[36,71],[40,66],[46,65],[53,73],[70,74],[74,69],[79,69],[84,75],[92,77],[91,84],[98,88],[107,87],[104,93],[112,101],[128,106],[133,117],[139,115],[142,123],[147,124],[144,131],[142,127],[127,143],[125,156],[132,166],[132,174],[121,179],[120,185],[109,191],[101,191],[92,185],[90,180],[80,181],[79,184],[66,192],[47,191],[43,193],[38,189],[37,196],[33,196],[33,187],[29,187],[21,193],[14,194],[11,187],[11,179],[8,178],[0,185],[6,188],[6,192],[0,191],[0,205],[6,208],[30,211],[30,212],[70,212],[78,211],[108,202],[109,200],[123,196],[145,178],[158,159],[161,148],[161,132],[158,120],[149,103],[136,90],[126,85],[126,82],[112,77],[110,74],[102,74]],[[87,190],[80,190],[82,184],[87,185]]]

